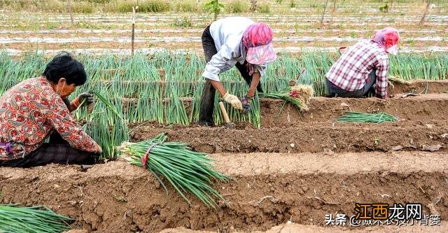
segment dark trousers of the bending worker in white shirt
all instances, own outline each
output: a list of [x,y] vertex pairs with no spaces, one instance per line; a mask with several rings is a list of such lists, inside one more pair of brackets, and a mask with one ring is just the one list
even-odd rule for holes
[[[216,53],[218,52],[216,50],[215,41],[213,40],[213,37],[211,37],[210,34],[210,26],[207,27],[202,33],[202,48],[204,49],[206,62],[210,62],[211,57],[216,55]],[[244,64],[239,64],[239,62],[237,62],[235,66],[239,70],[239,73],[241,73],[241,76],[243,76],[244,80],[246,80],[246,83],[250,86],[252,82],[252,76],[249,75],[248,73],[247,64],[248,63],[246,61],[244,62]],[[257,90],[258,92],[262,92],[261,82],[258,83]],[[216,92],[215,87],[211,85],[209,79],[206,79],[204,89],[202,90],[201,107],[199,112],[198,123],[200,125],[209,125],[209,126],[215,125],[213,119],[215,92]]]

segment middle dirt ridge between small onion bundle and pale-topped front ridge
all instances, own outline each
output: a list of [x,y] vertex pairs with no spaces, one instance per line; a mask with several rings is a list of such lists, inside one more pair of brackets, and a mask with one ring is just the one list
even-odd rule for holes
[[[428,126],[432,127],[431,129]],[[161,128],[138,127],[132,140],[151,139],[161,132],[169,141],[188,142],[193,150],[205,153],[300,153],[360,152],[389,150],[430,150],[440,146],[447,151],[446,122],[432,124],[383,123],[349,124],[302,123],[294,127],[268,129],[226,129],[225,127]]]

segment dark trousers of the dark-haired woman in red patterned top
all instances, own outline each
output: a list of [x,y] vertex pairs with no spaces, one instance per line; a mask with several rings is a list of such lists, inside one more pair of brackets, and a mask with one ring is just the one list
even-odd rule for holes
[[97,153],[88,153],[72,148],[62,137],[54,132],[49,143],[34,150],[22,159],[0,161],[0,167],[36,167],[45,164],[94,164],[99,157]]

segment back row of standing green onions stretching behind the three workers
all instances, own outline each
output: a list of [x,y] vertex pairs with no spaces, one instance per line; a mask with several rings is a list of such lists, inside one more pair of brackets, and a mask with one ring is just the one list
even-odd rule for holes
[[[262,78],[263,90],[283,90],[290,80],[295,80],[299,84],[313,85],[315,95],[325,95],[324,75],[337,57],[337,54],[328,52],[281,54],[267,66],[266,75]],[[38,76],[48,58],[36,52],[17,58],[0,52],[0,94],[21,80]],[[84,64],[90,78],[81,89],[112,90],[114,97],[152,99],[150,92],[157,97],[170,97],[172,92],[179,94],[179,97],[194,97],[203,83],[201,74],[205,61],[195,53],[165,51],[134,57],[78,55],[77,59]],[[405,80],[442,80],[448,76],[448,55],[444,53],[406,53],[391,56],[390,59],[391,76]],[[246,91],[247,87],[237,69],[221,74],[221,79],[237,94]]]

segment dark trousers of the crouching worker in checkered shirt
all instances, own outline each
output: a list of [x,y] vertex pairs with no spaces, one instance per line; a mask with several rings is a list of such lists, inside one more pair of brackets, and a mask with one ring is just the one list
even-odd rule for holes
[[325,78],[325,82],[327,84],[328,97],[348,97],[348,98],[359,98],[365,97],[369,92],[374,93],[375,83],[377,82],[377,74],[374,69],[369,74],[369,78],[365,81],[365,85],[360,90],[356,90],[353,92],[348,92],[344,89],[339,88],[337,85],[333,84],[330,80]]

